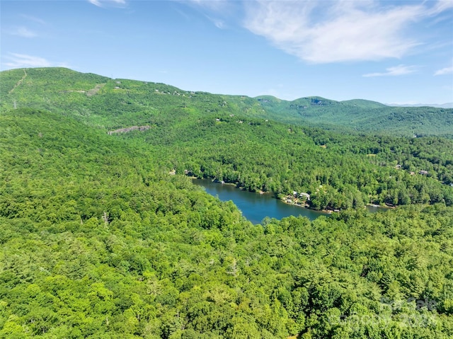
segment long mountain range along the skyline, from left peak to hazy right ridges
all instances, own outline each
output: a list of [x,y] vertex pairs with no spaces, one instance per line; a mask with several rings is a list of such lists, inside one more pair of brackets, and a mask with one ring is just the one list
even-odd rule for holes
[[147,125],[156,116],[190,114],[195,118],[210,114],[219,119],[236,115],[340,132],[453,137],[452,108],[389,106],[317,96],[292,101],[273,96],[229,96],[65,68],[2,71],[0,94],[0,108],[25,106],[71,114],[108,130]]

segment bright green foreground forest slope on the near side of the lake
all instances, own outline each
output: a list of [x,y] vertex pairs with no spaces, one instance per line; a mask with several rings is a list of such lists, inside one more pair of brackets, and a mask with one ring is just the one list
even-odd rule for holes
[[137,137],[32,108],[0,131],[1,338],[453,335],[451,207],[252,225]]

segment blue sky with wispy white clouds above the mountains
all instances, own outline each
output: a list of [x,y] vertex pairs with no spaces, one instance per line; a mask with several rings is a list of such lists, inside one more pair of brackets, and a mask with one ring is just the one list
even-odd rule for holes
[[453,0],[0,1],[0,69],[187,91],[453,102]]

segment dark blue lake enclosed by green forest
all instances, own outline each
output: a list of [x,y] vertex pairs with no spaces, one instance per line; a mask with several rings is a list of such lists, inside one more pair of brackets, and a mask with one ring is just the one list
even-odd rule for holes
[[304,207],[285,204],[280,199],[276,199],[273,193],[259,194],[240,190],[234,185],[222,185],[213,183],[209,179],[193,179],[195,185],[205,188],[210,195],[219,197],[222,201],[233,201],[242,215],[253,224],[260,224],[265,217],[282,219],[291,215],[307,217],[314,220],[321,215],[328,216],[325,212],[314,211]]

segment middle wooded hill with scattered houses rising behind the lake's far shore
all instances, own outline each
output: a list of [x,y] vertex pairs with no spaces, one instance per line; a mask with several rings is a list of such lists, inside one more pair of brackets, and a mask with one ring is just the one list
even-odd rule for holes
[[[176,173],[213,178],[251,191],[311,195],[314,209],[365,204],[453,205],[453,142],[345,137],[260,120],[202,117],[121,134],[151,145]],[[426,171],[427,174],[420,174]],[[424,173],[424,172],[422,172]]]

